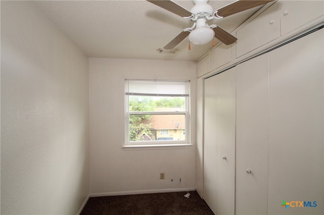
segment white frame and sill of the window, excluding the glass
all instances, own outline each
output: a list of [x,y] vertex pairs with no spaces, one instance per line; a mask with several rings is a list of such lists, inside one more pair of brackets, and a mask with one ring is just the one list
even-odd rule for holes
[[[137,79],[125,79],[125,85],[127,81],[132,81]],[[130,116],[131,115],[184,115],[185,116],[185,130],[190,131],[190,80],[146,80],[138,79],[138,81],[163,81],[163,82],[188,82],[188,94],[185,96],[185,111],[129,111],[129,96],[138,95],[137,93],[127,92],[127,87],[125,87],[125,146],[124,148],[140,148],[140,147],[183,147],[190,144],[190,132],[185,132],[184,140],[152,140],[152,141],[131,141],[130,140]],[[158,95],[157,95],[158,96]],[[169,95],[174,97],[175,95]],[[163,95],[163,97],[168,97]],[[179,96],[180,97],[180,96]],[[183,129],[182,129],[183,130]]]

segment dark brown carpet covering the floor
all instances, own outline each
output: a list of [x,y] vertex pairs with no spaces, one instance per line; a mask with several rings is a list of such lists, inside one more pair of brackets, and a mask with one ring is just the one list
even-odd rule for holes
[[196,191],[91,197],[81,214],[214,214]]

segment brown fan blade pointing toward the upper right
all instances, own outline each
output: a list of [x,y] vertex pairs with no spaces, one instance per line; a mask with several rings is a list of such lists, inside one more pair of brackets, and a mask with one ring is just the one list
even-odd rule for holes
[[[273,2],[274,0],[270,0],[270,1],[236,1],[233,2],[232,4],[229,4],[223,8],[220,8],[216,11],[214,11],[214,16],[218,17],[218,18],[222,18],[222,17],[227,17],[260,5],[264,5],[266,3],[269,2]],[[216,13],[216,14],[215,14]]]

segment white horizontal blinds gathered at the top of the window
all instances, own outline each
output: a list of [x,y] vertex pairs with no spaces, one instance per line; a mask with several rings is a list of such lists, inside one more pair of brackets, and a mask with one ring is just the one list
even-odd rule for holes
[[125,80],[126,95],[189,96],[190,81]]

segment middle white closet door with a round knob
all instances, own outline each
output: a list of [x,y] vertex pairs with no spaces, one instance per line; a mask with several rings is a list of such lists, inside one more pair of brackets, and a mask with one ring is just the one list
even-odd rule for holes
[[267,214],[268,62],[266,53],[236,66],[236,214]]

